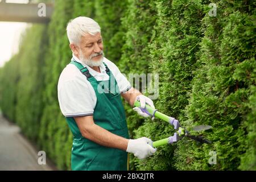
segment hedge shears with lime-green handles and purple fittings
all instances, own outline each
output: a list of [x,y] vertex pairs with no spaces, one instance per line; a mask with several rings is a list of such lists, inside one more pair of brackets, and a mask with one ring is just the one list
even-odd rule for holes
[[[171,137],[152,142],[151,145],[154,148],[158,147],[158,146],[162,146],[164,144],[175,143],[175,142],[179,141],[180,139],[182,139],[183,137],[188,137],[188,138],[196,140],[197,142],[200,142],[200,143],[211,143],[209,140],[204,139],[201,136],[191,135],[189,133],[189,131],[185,130],[184,127],[181,127],[181,125],[177,119],[172,118],[166,114],[160,113],[157,109],[152,108],[148,104],[146,104],[145,108],[142,108],[141,102],[139,102],[139,100],[136,100],[134,102],[134,106],[139,107],[144,113],[147,113],[148,115],[151,115],[152,117],[156,117],[156,118],[162,119],[163,121],[170,123],[171,125],[174,126],[174,129],[176,130],[174,135],[172,135]],[[209,126],[209,125],[199,125],[199,126],[193,127],[192,130],[193,131],[204,131],[204,130],[209,130],[211,128],[212,128],[212,126]]]

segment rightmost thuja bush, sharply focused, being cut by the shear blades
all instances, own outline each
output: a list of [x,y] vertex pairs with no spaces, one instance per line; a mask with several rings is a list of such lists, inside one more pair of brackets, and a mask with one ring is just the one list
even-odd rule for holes
[[203,20],[200,68],[185,111],[190,125],[213,127],[204,133],[212,144],[179,145],[179,170],[255,169],[255,2],[215,3],[217,16]]

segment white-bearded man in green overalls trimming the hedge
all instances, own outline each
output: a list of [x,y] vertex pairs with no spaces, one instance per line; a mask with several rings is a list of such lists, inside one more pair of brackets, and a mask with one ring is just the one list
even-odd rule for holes
[[[100,26],[80,16],[67,26],[71,63],[61,72],[58,99],[73,133],[72,170],[127,170],[127,152],[139,159],[155,153],[151,140],[129,139],[121,96],[134,105],[154,107],[150,98],[131,87],[103,53]],[[138,107],[140,115],[148,117]]]

